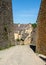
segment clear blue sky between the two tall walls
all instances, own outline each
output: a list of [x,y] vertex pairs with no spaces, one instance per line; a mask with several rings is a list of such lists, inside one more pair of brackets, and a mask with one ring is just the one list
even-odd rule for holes
[[12,0],[14,23],[35,23],[41,0]]

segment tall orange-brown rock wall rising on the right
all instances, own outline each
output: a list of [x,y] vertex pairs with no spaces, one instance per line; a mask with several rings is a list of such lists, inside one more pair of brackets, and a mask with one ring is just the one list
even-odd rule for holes
[[41,7],[37,21],[37,51],[46,55],[46,0],[41,0]]

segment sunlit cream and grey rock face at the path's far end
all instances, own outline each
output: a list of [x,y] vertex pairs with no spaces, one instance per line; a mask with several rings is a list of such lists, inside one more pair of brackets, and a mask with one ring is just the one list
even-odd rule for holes
[[17,44],[30,44],[32,29],[31,24],[14,24],[15,42],[17,40]]

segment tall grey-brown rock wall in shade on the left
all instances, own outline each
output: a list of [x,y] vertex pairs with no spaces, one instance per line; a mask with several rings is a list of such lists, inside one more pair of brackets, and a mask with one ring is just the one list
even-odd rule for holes
[[0,0],[0,47],[13,44],[12,0]]

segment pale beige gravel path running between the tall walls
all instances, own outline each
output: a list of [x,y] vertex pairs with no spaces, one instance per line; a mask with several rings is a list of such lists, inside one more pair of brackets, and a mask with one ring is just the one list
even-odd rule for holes
[[28,45],[0,51],[0,65],[45,65]]

